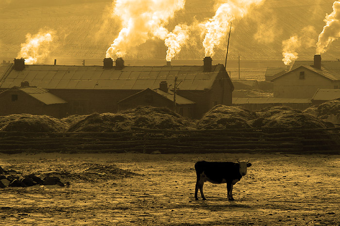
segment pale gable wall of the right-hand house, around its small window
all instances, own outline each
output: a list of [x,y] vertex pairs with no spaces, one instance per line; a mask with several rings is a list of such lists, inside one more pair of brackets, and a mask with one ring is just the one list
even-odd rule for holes
[[[305,71],[305,79],[300,79],[300,71]],[[318,73],[299,68],[273,80],[274,97],[278,98],[312,98],[318,88],[334,88],[340,85]],[[340,86],[339,86],[340,87]]]

